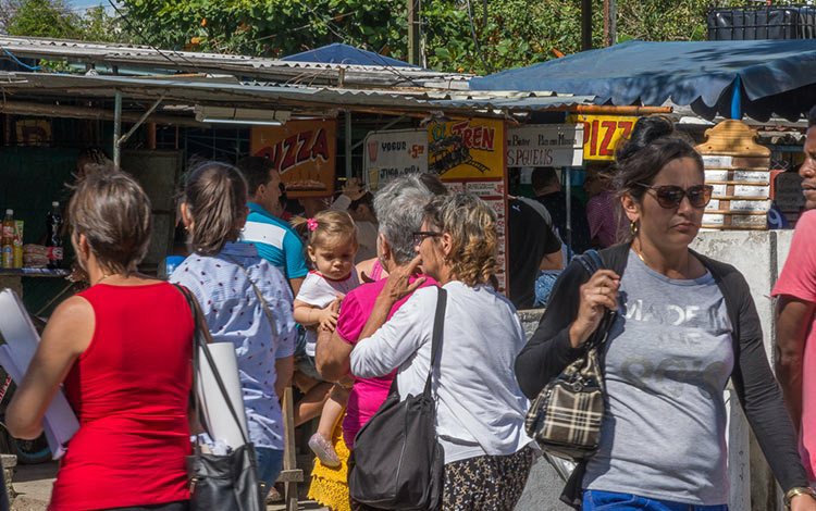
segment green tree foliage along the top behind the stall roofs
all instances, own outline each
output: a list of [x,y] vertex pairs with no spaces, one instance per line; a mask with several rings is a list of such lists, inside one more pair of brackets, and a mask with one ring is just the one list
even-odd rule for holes
[[[406,60],[407,3],[122,0],[114,16],[102,8],[79,16],[65,0],[0,0],[0,8],[11,7],[0,9],[0,27],[14,35],[272,58],[346,42]],[[617,0],[617,40],[704,39],[708,10],[738,4],[744,0]],[[595,47],[604,43],[602,10],[603,1],[593,0]],[[581,49],[581,0],[424,0],[421,22],[424,64],[441,71],[490,73]]]

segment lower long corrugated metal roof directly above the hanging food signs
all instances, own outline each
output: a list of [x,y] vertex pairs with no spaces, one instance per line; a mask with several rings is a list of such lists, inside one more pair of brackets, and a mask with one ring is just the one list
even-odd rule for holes
[[306,87],[261,82],[224,83],[223,79],[173,79],[172,77],[83,76],[46,73],[0,73],[4,94],[36,95],[37,98],[110,99],[119,90],[127,99],[157,99],[165,102],[228,104],[246,108],[293,110],[384,109],[393,111],[443,110],[458,113],[502,115],[512,112],[557,110],[591,104],[591,96],[555,96],[552,92],[491,94],[423,92],[399,89],[349,89]]

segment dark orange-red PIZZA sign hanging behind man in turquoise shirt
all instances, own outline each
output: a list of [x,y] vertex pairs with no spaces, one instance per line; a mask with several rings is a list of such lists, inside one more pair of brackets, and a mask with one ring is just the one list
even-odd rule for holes
[[335,121],[255,126],[251,153],[272,162],[289,197],[329,197],[334,192],[336,133]]

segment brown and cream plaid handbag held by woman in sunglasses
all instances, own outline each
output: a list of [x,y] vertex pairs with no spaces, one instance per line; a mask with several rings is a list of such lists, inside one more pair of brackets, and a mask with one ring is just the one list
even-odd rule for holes
[[[588,250],[576,259],[590,276],[604,267],[595,250]],[[545,452],[581,461],[597,450],[605,406],[598,352],[616,315],[614,311],[606,311],[588,340],[584,354],[545,385],[533,400],[524,427]]]

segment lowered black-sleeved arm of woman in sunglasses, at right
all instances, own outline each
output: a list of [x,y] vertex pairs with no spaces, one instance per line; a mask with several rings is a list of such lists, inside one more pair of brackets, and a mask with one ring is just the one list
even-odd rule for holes
[[739,272],[734,270],[729,277],[737,279],[731,287],[735,296],[727,298],[739,300],[737,304],[740,338],[731,374],[737,395],[782,490],[788,491],[794,486],[807,486],[807,476],[796,449],[793,425],[765,353],[762,325],[754,299],[751,298],[747,283]]

